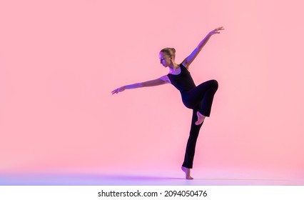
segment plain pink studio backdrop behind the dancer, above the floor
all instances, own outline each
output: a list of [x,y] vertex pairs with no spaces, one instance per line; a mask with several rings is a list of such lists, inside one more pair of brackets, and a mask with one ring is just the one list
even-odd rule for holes
[[[191,65],[217,79],[196,169],[304,169],[302,1],[1,1],[0,171],[178,169],[191,110],[171,85],[111,95]],[[303,174],[302,174],[303,175]]]

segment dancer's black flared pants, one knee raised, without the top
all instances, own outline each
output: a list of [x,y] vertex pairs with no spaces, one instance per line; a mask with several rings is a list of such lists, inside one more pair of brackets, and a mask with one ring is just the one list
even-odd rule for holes
[[210,80],[182,94],[183,104],[189,109],[193,109],[190,135],[186,146],[185,159],[183,161],[183,166],[188,169],[192,169],[196,141],[201,126],[203,125],[203,123],[199,125],[195,124],[198,120],[196,112],[199,111],[204,116],[210,116],[213,96],[217,90],[218,81]]

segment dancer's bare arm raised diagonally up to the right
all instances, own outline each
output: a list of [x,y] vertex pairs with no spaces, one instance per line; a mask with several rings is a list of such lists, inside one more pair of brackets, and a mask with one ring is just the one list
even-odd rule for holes
[[210,31],[207,34],[207,36],[200,42],[200,44],[198,44],[196,49],[194,49],[194,51],[192,51],[192,53],[186,59],[183,60],[183,62],[182,62],[183,66],[186,66],[186,68],[188,69],[190,64],[193,62],[193,60],[196,58],[196,56],[198,56],[198,53],[203,49],[203,46],[205,46],[205,44],[211,38],[211,36],[214,34],[220,34],[219,31],[221,31],[221,30],[224,30],[223,26],[218,27],[218,29],[214,29],[213,31]]

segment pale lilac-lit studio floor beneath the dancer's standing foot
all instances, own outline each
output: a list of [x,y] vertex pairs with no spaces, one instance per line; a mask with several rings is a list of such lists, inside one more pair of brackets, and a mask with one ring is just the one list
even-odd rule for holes
[[193,180],[183,171],[117,171],[94,173],[0,174],[1,186],[304,186],[303,176],[294,171],[192,171]]

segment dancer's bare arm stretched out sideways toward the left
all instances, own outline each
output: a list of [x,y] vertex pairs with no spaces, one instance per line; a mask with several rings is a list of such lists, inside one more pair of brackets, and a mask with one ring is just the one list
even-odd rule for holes
[[118,94],[118,92],[124,91],[125,89],[136,89],[136,88],[140,88],[140,87],[159,86],[162,84],[169,84],[169,83],[170,83],[170,80],[169,80],[168,76],[165,75],[165,76],[161,76],[161,78],[154,79],[151,81],[145,81],[142,83],[121,86],[118,89],[114,89],[112,91],[112,94]]

